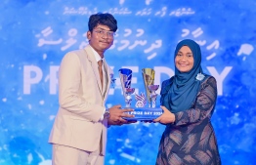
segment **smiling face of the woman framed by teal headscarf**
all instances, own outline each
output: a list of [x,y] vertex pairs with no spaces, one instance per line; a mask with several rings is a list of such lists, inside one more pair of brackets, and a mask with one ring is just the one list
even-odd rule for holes
[[192,50],[183,46],[175,57],[175,65],[181,72],[188,72],[193,66]]

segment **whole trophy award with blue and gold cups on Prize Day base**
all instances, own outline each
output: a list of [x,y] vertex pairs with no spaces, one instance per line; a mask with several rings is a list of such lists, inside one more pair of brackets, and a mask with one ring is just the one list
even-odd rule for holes
[[[123,96],[126,103],[125,106],[131,107],[131,102],[132,102],[131,95],[135,91],[134,88],[131,88],[132,70],[128,68],[121,68],[119,69],[119,76],[120,76]],[[140,95],[135,94],[135,99],[137,101],[137,103],[135,104],[136,107],[131,107],[134,109],[134,111],[126,112],[128,114],[133,114],[135,117],[133,118],[123,117],[126,120],[150,121],[162,114],[161,108],[155,108],[155,101],[157,97],[157,94],[155,94],[155,91],[158,89],[159,85],[153,85],[154,70],[151,68],[144,68],[143,79],[145,82],[147,97],[144,93],[141,93]],[[146,107],[147,100],[149,101],[149,107]]]

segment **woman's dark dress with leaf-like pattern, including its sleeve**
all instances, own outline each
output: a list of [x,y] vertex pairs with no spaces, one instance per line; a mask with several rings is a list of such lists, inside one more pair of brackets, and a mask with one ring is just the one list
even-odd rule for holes
[[216,99],[216,80],[211,76],[202,82],[192,107],[175,113],[175,123],[166,125],[156,165],[221,165],[210,120]]

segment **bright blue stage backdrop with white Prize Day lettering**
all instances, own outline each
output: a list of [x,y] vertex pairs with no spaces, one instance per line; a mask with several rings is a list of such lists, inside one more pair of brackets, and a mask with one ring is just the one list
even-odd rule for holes
[[[132,69],[132,87],[145,92],[142,68],[153,68],[160,85],[174,74],[176,44],[191,38],[201,46],[203,70],[218,82],[212,123],[223,164],[256,164],[255,9],[254,0],[2,0],[0,165],[51,164],[59,65],[88,44],[88,18],[98,12],[118,21],[106,53],[116,78],[107,106],[124,105],[119,68]],[[106,164],[153,165],[163,130],[140,122],[110,127]]]

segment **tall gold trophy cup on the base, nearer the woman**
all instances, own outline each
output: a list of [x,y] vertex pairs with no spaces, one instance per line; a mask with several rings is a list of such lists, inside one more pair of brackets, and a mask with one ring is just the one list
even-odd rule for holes
[[155,102],[157,94],[155,91],[159,88],[159,85],[154,85],[154,70],[151,68],[143,68],[143,79],[146,89],[147,99],[149,102],[149,107],[155,107]]

